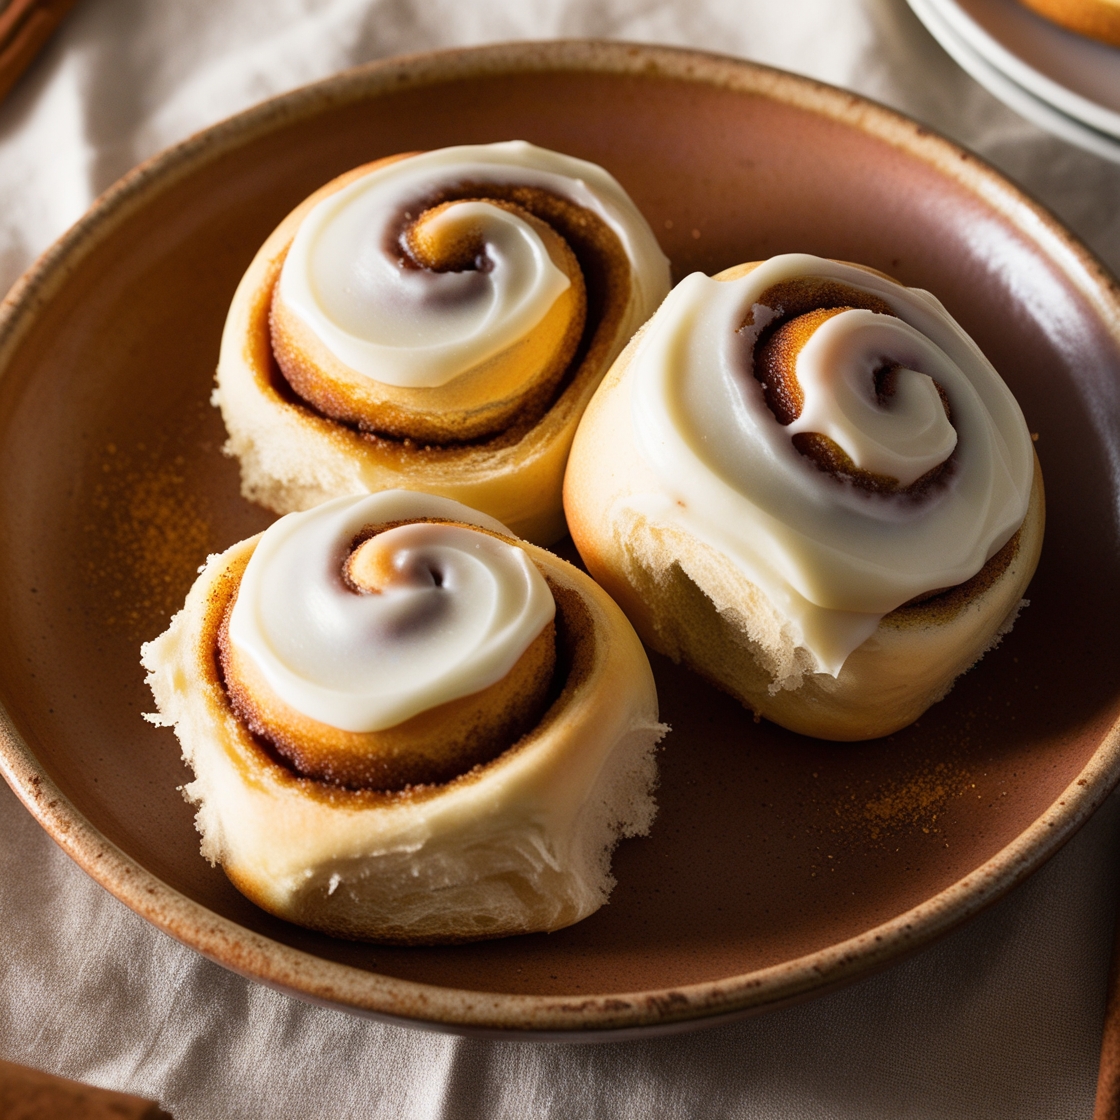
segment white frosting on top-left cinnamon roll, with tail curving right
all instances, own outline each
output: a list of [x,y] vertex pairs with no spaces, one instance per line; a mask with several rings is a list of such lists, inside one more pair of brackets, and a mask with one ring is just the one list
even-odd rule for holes
[[643,301],[659,297],[668,261],[601,167],[520,140],[423,152],[323,199],[280,274],[286,306],[355,372],[390,385],[445,385],[524,337],[570,286],[529,223],[484,202],[455,203],[433,221],[477,231],[485,270],[401,268],[393,239],[402,214],[419,217],[440,188],[464,183],[538,187],[595,213],[618,236]]

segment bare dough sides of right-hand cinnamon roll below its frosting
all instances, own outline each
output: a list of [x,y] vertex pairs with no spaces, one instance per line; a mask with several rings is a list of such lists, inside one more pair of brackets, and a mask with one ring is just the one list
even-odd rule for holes
[[588,570],[648,646],[783,727],[858,740],[913,722],[1010,629],[1042,550],[1045,500],[1037,457],[1021,529],[976,577],[887,614],[839,675],[816,672],[781,609],[725,553],[654,523],[628,501],[661,486],[632,422],[628,371],[640,342],[641,332],[585,413],[564,480],[564,508]]

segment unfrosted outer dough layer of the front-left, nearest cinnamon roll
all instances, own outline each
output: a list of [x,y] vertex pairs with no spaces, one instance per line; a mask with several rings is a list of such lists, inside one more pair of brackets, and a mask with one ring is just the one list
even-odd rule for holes
[[295,774],[237,719],[217,634],[259,538],[211,557],[142,662],[159,726],[195,772],[203,855],[259,906],[326,933],[403,944],[558,930],[614,887],[610,852],[655,813],[666,728],[645,652],[582,572],[523,544],[557,600],[562,688],[538,726],[442,785],[346,790]]

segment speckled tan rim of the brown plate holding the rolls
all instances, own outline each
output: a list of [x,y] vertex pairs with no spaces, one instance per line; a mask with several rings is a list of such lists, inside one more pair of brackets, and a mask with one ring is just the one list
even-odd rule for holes
[[[316,112],[389,90],[486,75],[607,72],[655,75],[756,94],[848,124],[955,180],[1029,235],[1060,267],[1120,349],[1120,284],[1038,203],[926,125],[846,90],[724,55],[561,39],[400,56],[280,94],[151,157],[111,186],[0,304],[0,376],[35,311],[134,211],[225,151]],[[596,996],[478,992],[401,980],[325,960],[254,933],[164,883],[112,843],[54,783],[0,706],[0,773],[48,834],[95,881],[204,956],[288,995],[371,1018],[492,1038],[618,1040],[713,1025],[772,1009],[883,968],[946,933],[1049,858],[1120,780],[1120,720],[1038,819],[956,883],[889,921],[776,965],[688,986]]]

